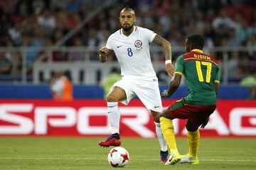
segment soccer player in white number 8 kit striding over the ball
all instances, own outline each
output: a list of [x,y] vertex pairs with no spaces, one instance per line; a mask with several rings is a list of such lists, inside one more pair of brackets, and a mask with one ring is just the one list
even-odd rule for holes
[[144,106],[151,111],[156,125],[156,135],[161,146],[161,162],[166,162],[168,150],[161,132],[159,115],[162,111],[158,79],[151,64],[149,47],[154,42],[164,47],[166,72],[174,74],[171,64],[171,44],[151,30],[134,26],[136,16],[134,10],[127,6],[119,14],[122,28],[110,35],[106,47],[100,49],[100,62],[106,62],[112,52],[117,56],[121,67],[122,79],[117,81],[107,94],[107,115],[112,128],[112,135],[107,140],[99,142],[102,147],[119,146],[119,108],[118,102],[127,104],[138,96]]

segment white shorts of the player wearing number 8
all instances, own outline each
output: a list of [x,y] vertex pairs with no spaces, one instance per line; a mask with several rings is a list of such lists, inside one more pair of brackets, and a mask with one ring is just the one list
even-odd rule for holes
[[125,91],[127,98],[122,101],[125,105],[132,98],[138,96],[147,109],[161,112],[162,103],[157,78],[138,79],[133,77],[122,77],[112,87],[117,86]]

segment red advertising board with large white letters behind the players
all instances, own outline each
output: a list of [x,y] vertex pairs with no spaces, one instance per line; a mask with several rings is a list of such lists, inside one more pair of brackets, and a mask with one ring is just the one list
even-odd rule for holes
[[[164,100],[168,106],[174,100]],[[139,100],[120,104],[122,137],[156,137],[149,111]],[[184,120],[174,120],[177,136],[185,136]],[[0,135],[105,136],[110,134],[104,100],[0,100]],[[256,101],[219,100],[201,135],[256,137]]]

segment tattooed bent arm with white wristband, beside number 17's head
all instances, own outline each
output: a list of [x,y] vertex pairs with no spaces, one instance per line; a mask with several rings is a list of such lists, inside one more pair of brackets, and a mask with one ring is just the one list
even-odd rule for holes
[[152,41],[157,45],[161,45],[164,48],[164,55],[166,61],[166,72],[169,76],[174,74],[174,66],[171,64],[171,43],[162,38],[160,35],[156,35]]

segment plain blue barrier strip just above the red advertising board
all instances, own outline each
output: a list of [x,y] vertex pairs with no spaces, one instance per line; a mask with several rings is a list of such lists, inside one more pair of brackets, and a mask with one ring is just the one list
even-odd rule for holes
[[[168,89],[169,86],[159,86],[160,91]],[[73,94],[76,99],[103,98],[103,89],[101,86],[75,85]],[[180,86],[171,98],[181,98],[188,94],[187,86]],[[3,99],[50,99],[53,96],[50,93],[49,85],[0,85],[0,98]],[[250,98],[250,92],[246,86],[220,86],[219,99],[247,99]]]

